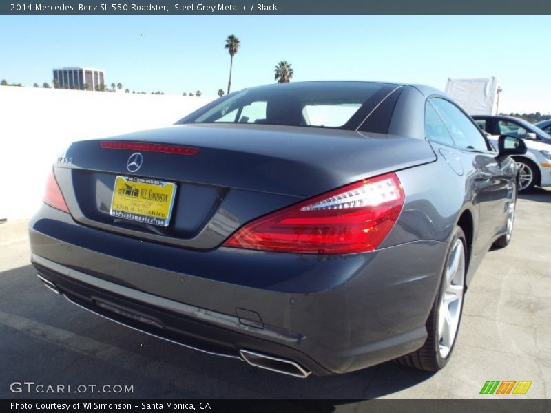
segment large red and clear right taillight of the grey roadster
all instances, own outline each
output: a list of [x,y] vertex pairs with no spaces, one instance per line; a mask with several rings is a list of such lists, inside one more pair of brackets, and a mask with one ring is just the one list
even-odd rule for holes
[[398,177],[386,173],[249,222],[224,246],[311,254],[373,251],[391,231],[403,204]]

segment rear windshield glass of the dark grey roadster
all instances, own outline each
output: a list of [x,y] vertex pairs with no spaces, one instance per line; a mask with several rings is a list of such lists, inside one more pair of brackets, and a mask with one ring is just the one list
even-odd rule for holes
[[260,123],[355,130],[396,87],[364,82],[253,87],[218,99],[178,123]]

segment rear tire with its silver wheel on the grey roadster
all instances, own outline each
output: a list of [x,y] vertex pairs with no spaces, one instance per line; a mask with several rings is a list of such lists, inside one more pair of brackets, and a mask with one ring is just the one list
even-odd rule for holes
[[[426,321],[428,333],[426,341],[419,350],[400,357],[398,359],[399,363],[431,372],[441,370],[448,363],[459,331],[459,324],[461,324],[461,314],[463,313],[467,268],[466,251],[465,234],[459,226],[455,226],[452,241],[448,253],[446,253],[446,262],[444,263],[438,293]],[[456,259],[458,260],[457,271],[453,273]],[[455,284],[448,282],[450,276],[452,283]],[[454,297],[455,299],[446,304],[446,298],[449,300]],[[446,322],[446,315],[449,315],[448,319],[453,323]]]

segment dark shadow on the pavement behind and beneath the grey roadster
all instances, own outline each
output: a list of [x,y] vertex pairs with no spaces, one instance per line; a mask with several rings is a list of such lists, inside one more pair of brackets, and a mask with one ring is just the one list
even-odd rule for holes
[[[0,397],[371,399],[432,374],[388,362],[360,372],[295,379],[180,347],[73,306],[32,266],[0,273]],[[9,383],[127,384],[132,394],[13,394]],[[329,402],[329,401],[328,401]],[[329,402],[331,404],[331,402]],[[342,404],[342,402],[341,402]],[[346,401],[344,401],[346,404]],[[318,405],[322,409],[322,404]],[[322,411],[333,411],[324,405]]]

